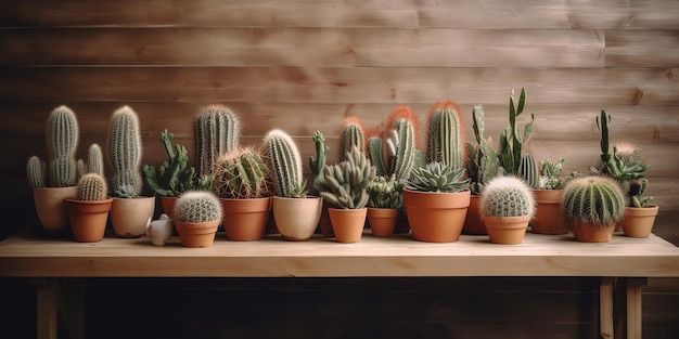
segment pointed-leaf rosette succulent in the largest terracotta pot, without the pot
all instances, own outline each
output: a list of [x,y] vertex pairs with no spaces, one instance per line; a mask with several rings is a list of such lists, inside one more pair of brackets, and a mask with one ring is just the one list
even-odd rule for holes
[[406,188],[420,192],[454,193],[469,188],[470,179],[464,178],[464,168],[434,161],[413,169]]

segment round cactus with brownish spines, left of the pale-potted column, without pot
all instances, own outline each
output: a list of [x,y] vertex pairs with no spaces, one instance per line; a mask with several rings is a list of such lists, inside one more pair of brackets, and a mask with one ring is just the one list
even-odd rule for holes
[[260,198],[269,195],[268,168],[258,151],[238,147],[220,156],[213,168],[215,192],[221,198]]

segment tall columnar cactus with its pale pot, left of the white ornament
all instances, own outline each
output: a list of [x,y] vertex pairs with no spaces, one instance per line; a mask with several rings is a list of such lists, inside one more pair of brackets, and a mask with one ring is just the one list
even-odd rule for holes
[[129,106],[114,110],[108,130],[108,159],[113,168],[111,224],[119,237],[140,237],[155,212],[155,197],[141,196],[141,130]]

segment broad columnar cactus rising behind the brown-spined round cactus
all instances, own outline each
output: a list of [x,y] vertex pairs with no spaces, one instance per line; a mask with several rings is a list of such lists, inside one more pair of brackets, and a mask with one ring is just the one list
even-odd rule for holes
[[207,105],[196,113],[193,129],[195,170],[200,175],[212,174],[215,160],[239,147],[241,121],[227,106]]

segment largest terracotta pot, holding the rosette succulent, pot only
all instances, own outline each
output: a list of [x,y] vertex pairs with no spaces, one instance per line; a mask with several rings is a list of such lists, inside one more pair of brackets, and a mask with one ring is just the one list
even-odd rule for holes
[[413,238],[426,243],[460,239],[470,199],[470,190],[459,193],[403,190],[403,206]]

